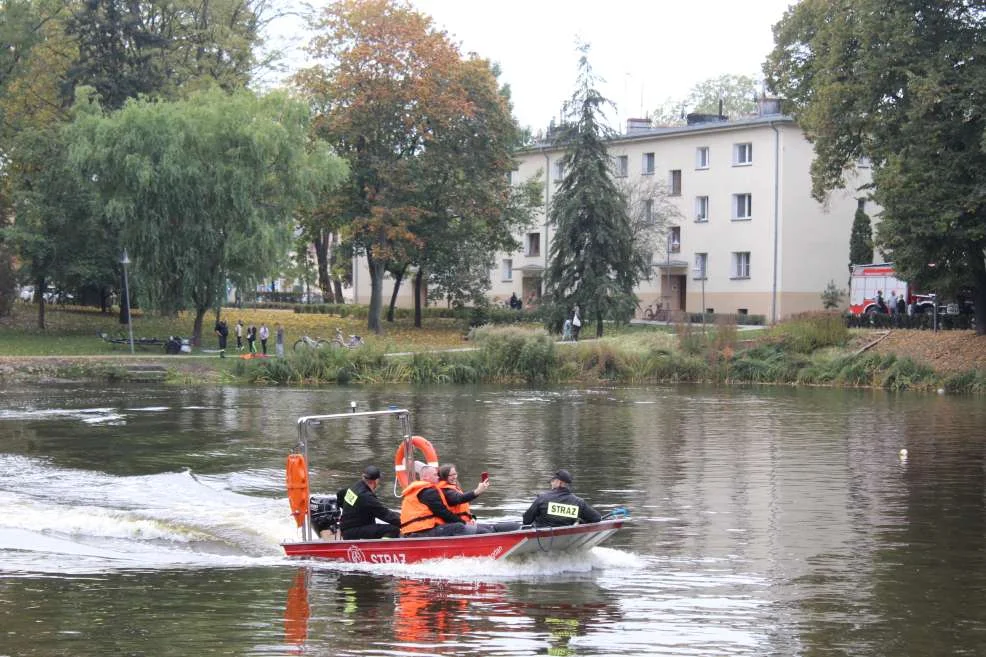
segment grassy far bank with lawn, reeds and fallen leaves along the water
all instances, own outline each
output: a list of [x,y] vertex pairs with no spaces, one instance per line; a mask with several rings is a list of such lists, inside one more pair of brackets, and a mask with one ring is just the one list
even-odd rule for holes
[[[201,351],[165,356],[160,347],[130,356],[128,345],[96,336],[109,332],[101,327],[119,331],[113,317],[56,310],[49,316],[51,328],[39,335],[23,309],[19,311],[0,325],[0,376],[5,378],[126,378],[126,363],[151,360],[182,384],[709,382],[986,392],[986,338],[970,332],[850,331],[841,317],[829,314],[750,333],[725,323],[705,333],[688,324],[607,327],[605,338],[577,344],[559,343],[557,336],[531,325],[484,327],[465,340],[466,327],[458,320],[431,319],[420,330],[399,320],[388,324],[384,335],[367,336],[367,346],[360,349],[293,352],[290,345],[300,335],[330,337],[336,326],[347,335],[363,333],[363,320],[277,310],[226,311],[230,324],[242,318],[245,324],[264,322],[273,329],[281,323],[288,335],[284,359],[242,360]],[[186,316],[138,318],[135,336],[187,334],[190,324]],[[901,334],[907,339],[902,341]],[[946,341],[965,346],[943,360],[934,345]],[[230,343],[229,353],[235,356],[235,338]],[[888,349],[895,343],[906,346]]]

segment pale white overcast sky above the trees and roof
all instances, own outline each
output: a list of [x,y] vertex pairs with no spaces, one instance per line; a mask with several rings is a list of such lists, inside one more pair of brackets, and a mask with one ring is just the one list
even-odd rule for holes
[[[622,128],[709,78],[760,78],[771,27],[795,0],[410,1],[464,53],[500,64],[514,115],[537,131],[575,88],[577,40],[591,45],[590,64],[605,81],[600,91],[616,105],[611,123]],[[297,25],[281,30],[288,45],[299,44]],[[303,62],[303,55],[292,59]]]

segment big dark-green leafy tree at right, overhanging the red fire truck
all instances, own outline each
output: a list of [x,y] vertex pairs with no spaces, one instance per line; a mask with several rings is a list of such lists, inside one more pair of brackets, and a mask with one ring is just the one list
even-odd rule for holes
[[[971,289],[986,333],[986,28],[968,2],[804,0],[764,71],[814,142],[813,193],[872,165],[876,246],[918,285]],[[934,263],[934,267],[929,264]]]

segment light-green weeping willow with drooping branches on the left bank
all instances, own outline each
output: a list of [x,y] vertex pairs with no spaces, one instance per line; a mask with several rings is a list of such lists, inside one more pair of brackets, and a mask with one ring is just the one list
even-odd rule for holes
[[296,210],[344,179],[345,164],[309,131],[300,101],[219,90],[129,101],[73,126],[72,163],[119,228],[147,305],[191,307],[196,343],[227,279],[276,271]]

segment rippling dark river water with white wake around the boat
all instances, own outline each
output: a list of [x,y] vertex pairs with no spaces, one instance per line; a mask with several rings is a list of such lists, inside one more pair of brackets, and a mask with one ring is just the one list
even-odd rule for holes
[[[389,404],[517,518],[550,473],[633,521],[577,557],[284,558],[298,416]],[[0,655],[986,655],[986,404],[861,390],[0,388]],[[319,433],[313,489],[396,423]],[[906,449],[906,457],[900,450]]]

